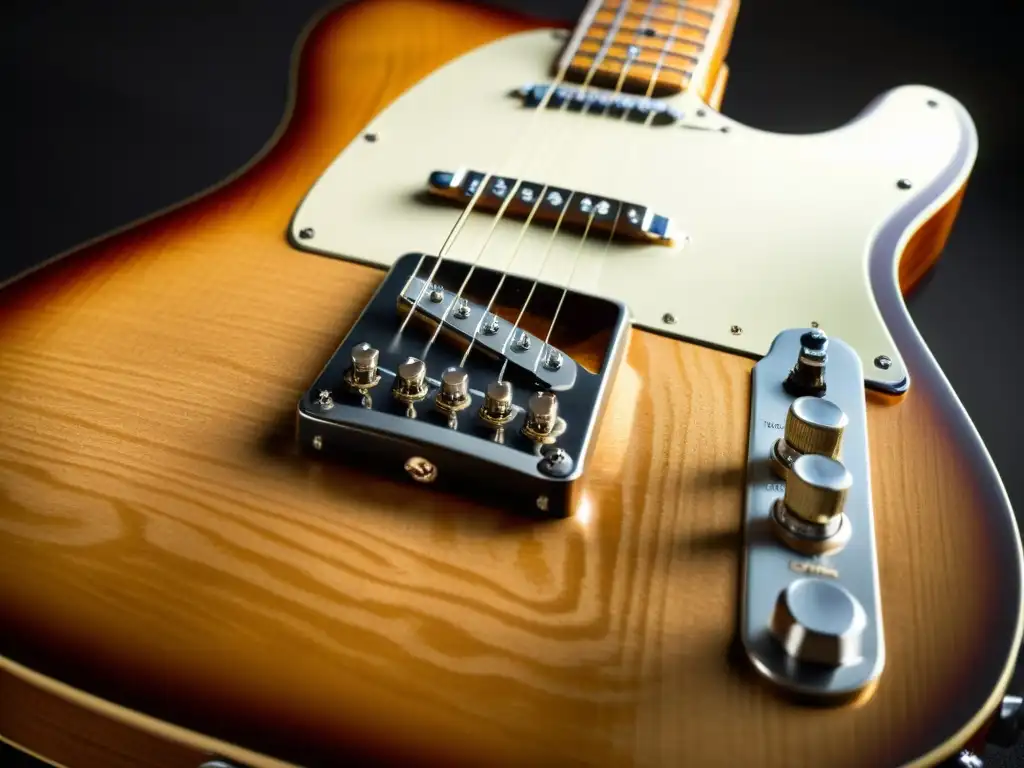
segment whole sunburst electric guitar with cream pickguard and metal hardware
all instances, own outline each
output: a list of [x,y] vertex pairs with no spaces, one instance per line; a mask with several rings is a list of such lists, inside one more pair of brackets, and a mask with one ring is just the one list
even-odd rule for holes
[[983,732],[1021,541],[901,295],[975,129],[925,86],[741,125],[737,11],[346,4],[244,173],[4,286],[0,734],[141,768]]

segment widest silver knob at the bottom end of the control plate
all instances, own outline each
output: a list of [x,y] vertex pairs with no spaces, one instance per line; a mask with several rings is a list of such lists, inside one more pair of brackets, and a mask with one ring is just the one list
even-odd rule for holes
[[798,579],[779,593],[768,629],[793,658],[842,667],[862,656],[867,613],[836,582]]

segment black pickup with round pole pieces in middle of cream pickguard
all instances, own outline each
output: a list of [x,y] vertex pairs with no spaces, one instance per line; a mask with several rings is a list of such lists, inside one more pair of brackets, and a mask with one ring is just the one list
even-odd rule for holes
[[[434,171],[427,181],[427,188],[432,195],[465,205],[476,195],[485,175],[479,171]],[[486,213],[496,212],[512,191],[515,181],[508,176],[492,176],[474,208]],[[523,181],[519,184],[505,215],[522,220],[535,207],[537,213],[534,221],[538,223],[554,225],[564,210],[562,228],[581,231],[593,217],[590,224],[592,233],[612,233],[613,230],[616,240],[672,245],[668,217],[648,208],[536,181]]]

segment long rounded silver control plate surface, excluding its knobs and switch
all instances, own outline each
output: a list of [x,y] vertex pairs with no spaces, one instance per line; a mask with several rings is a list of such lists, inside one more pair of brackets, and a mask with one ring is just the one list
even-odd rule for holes
[[[843,549],[827,555],[806,556],[790,549],[773,530],[772,506],[784,494],[785,483],[772,471],[769,457],[783,434],[795,399],[782,388],[782,382],[800,353],[801,335],[809,330],[779,334],[752,374],[739,634],[746,656],[772,683],[790,692],[838,703],[868,686],[885,666],[867,408],[859,356],[848,344],[830,339],[824,396],[849,419],[839,458],[853,477],[844,506],[844,524],[850,525],[851,538]],[[780,593],[801,580],[838,586],[863,608],[866,628],[859,660],[839,667],[798,662],[771,635],[768,628]]]

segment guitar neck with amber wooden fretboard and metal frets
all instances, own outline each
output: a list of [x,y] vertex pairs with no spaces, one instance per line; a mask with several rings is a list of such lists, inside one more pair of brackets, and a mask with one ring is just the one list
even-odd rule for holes
[[591,0],[557,69],[585,86],[708,99],[738,10],[739,0]]

